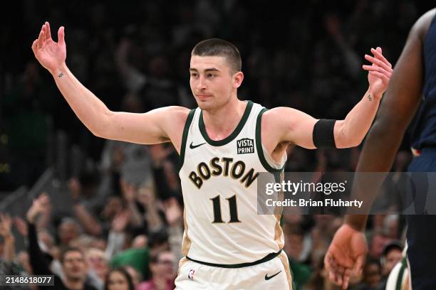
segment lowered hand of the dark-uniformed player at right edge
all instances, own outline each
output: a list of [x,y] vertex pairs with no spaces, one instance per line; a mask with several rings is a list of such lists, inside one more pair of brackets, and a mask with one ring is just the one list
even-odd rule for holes
[[331,281],[347,289],[352,272],[362,272],[367,252],[364,233],[350,225],[342,225],[333,237],[324,258]]

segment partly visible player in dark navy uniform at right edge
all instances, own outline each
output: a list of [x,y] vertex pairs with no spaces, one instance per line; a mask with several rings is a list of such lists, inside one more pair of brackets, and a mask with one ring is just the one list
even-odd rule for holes
[[[415,158],[408,171],[436,171],[436,23],[432,9],[422,15],[410,30],[392,82],[373,128],[368,134],[356,171],[389,171],[419,104],[412,131],[412,152]],[[365,188],[367,200],[383,180]],[[419,190],[418,190],[419,193]],[[422,193],[422,192],[421,192]],[[359,193],[356,193],[359,194]],[[417,195],[417,200],[422,201]],[[416,202],[416,200],[415,200]],[[422,213],[421,213],[422,214]],[[360,272],[367,252],[363,234],[368,215],[348,215],[338,229],[326,254],[326,267],[330,277],[343,288],[348,286],[352,270]],[[413,290],[436,289],[436,215],[407,215],[408,259]]]

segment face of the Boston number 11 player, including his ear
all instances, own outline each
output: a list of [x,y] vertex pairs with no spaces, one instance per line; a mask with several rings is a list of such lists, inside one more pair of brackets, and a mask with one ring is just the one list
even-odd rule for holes
[[232,74],[222,56],[191,56],[190,86],[201,109],[217,109],[231,100],[241,85],[242,73]]

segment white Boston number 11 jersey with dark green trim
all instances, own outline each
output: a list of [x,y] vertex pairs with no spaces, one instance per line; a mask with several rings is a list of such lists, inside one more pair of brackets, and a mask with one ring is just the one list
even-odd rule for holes
[[261,144],[261,114],[248,101],[237,128],[226,139],[207,136],[202,110],[192,109],[180,152],[185,233],[183,254],[213,264],[251,263],[284,246],[281,215],[257,214],[257,177],[280,172]]

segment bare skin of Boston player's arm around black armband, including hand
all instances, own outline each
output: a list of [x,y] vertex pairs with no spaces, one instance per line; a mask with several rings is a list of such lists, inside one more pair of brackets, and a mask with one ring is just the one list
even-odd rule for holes
[[[368,91],[362,100],[351,109],[345,119],[338,120],[333,127],[334,143],[337,148],[358,146],[373,122],[383,92],[390,80],[392,65],[382,54],[381,48],[371,49],[365,59],[372,65],[363,65],[368,70]],[[278,124],[276,139],[291,141],[307,149],[316,148],[313,144],[313,127],[318,119],[296,109],[278,107],[265,113],[266,122]]]

